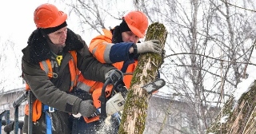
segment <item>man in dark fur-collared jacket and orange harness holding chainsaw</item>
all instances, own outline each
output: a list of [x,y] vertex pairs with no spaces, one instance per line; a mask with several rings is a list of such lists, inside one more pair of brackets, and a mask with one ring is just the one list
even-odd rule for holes
[[108,74],[120,71],[100,63],[90,53],[86,42],[67,28],[67,14],[46,3],[34,10],[34,30],[22,49],[22,77],[34,97],[32,126],[28,112],[23,132],[36,134],[70,134],[72,114],[91,116],[96,108],[89,99],[74,95],[78,74],[93,81],[105,82]]

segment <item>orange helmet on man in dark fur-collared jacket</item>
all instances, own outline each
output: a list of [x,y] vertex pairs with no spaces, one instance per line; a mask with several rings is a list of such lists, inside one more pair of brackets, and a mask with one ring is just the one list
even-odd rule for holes
[[66,21],[67,15],[52,4],[46,3],[34,10],[34,23],[37,28],[50,28],[61,25]]

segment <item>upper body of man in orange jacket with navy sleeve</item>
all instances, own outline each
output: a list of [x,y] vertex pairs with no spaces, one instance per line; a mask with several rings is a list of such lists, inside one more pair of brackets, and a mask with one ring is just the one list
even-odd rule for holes
[[[122,18],[119,26],[103,30],[105,35],[94,37],[89,50],[102,63],[111,63],[122,73],[133,73],[140,53],[162,53],[158,40],[139,41],[145,37],[149,26],[146,14],[130,11]],[[132,75],[126,75],[124,82],[130,88]]]

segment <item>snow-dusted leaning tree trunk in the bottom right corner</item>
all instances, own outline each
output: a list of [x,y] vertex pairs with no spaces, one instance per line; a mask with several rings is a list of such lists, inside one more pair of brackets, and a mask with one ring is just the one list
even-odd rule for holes
[[[222,108],[222,111],[208,128],[208,132],[228,134],[256,133],[256,82],[238,101],[234,97]],[[223,121],[226,120],[226,121]]]

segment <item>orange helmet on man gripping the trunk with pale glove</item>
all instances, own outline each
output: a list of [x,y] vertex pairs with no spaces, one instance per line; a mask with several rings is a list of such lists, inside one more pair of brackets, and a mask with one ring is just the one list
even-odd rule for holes
[[123,17],[129,26],[130,30],[142,38],[146,34],[146,29],[149,26],[146,14],[141,11],[131,11]]

